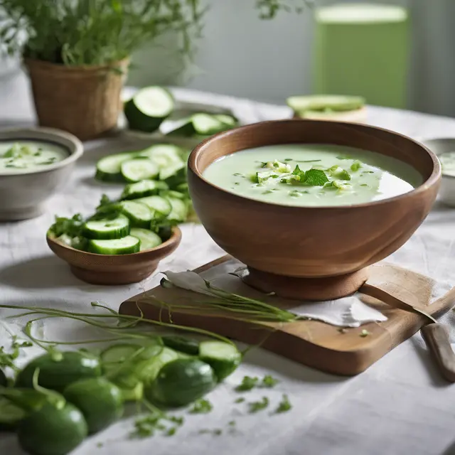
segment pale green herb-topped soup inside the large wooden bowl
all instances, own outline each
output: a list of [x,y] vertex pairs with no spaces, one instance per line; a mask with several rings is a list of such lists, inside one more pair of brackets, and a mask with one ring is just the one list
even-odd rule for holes
[[368,203],[422,183],[416,169],[390,156],[323,144],[237,151],[210,164],[203,177],[245,198],[300,206]]

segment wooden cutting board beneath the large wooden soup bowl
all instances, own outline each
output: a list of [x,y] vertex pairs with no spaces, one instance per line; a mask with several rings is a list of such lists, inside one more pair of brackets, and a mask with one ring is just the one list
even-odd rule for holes
[[[194,272],[205,272],[230,259],[232,258],[229,256],[221,257]],[[434,317],[441,316],[455,304],[455,287],[434,300],[432,292],[437,284],[433,279],[392,264],[380,263],[371,266],[367,283],[423,309]],[[422,315],[392,308],[365,295],[362,296],[363,301],[385,314],[387,321],[366,323],[359,328],[343,330],[328,323],[311,320],[271,324],[237,321],[226,317],[228,314],[214,313],[213,310],[189,314],[184,307],[194,298],[195,294],[191,291],[159,286],[124,301],[119,312],[139,316],[142,311],[147,319],[203,328],[251,345],[262,343],[262,348],[296,362],[328,373],[349,376],[366,370],[427,322]],[[178,304],[183,308],[178,311],[173,309],[170,319],[168,311],[157,304],[156,299],[168,304]],[[268,297],[267,301],[283,306],[277,296]],[[271,326],[274,330],[271,330]],[[365,330],[368,331],[368,336],[361,336]]]

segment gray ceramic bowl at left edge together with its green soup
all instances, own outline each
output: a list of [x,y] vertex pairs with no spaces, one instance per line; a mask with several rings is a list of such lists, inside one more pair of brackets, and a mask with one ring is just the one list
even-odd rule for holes
[[34,218],[68,179],[82,143],[57,129],[0,131],[0,221]]

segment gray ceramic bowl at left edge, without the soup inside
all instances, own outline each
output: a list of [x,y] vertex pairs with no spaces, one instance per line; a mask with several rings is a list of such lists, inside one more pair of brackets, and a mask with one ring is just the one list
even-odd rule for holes
[[83,152],[79,139],[58,129],[0,130],[0,142],[25,140],[58,144],[68,150],[69,156],[38,170],[16,174],[0,173],[0,221],[26,220],[41,215],[45,201],[68,180],[75,161]]

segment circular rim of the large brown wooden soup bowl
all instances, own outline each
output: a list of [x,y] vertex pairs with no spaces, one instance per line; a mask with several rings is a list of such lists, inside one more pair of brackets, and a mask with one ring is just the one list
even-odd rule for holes
[[[339,210],[339,209],[346,209],[346,208],[365,208],[365,207],[372,207],[372,206],[374,207],[376,205],[390,203],[395,200],[404,200],[407,198],[413,198],[414,196],[417,196],[420,193],[424,193],[425,191],[427,191],[428,188],[431,188],[432,186],[434,186],[439,181],[439,177],[441,176],[441,164],[439,162],[439,159],[437,158],[437,155],[434,154],[433,151],[431,151],[427,146],[425,146],[425,144],[422,144],[422,142],[416,141],[415,139],[412,139],[411,137],[405,136],[405,134],[394,132],[391,129],[374,127],[369,124],[354,124],[354,126],[364,128],[364,129],[377,129],[382,132],[395,134],[397,136],[402,137],[403,139],[412,141],[412,142],[414,142],[414,144],[422,147],[422,149],[424,149],[424,151],[427,152],[427,154],[433,161],[433,171],[432,171],[431,175],[429,176],[429,178],[427,178],[427,180],[423,181],[419,186],[412,189],[411,191],[408,191],[407,193],[402,193],[398,196],[393,196],[392,198],[373,200],[373,201],[370,201],[367,203],[345,204],[345,205],[284,205],[284,204],[265,202],[265,201],[257,200],[257,199],[246,198],[245,196],[240,196],[235,193],[231,193],[230,191],[226,191],[225,189],[220,188],[220,186],[217,186],[217,185],[211,183],[210,181],[208,181],[206,178],[204,178],[202,173],[200,173],[198,166],[196,166],[196,161],[198,159],[198,156],[200,156],[200,154],[203,154],[204,150],[208,146],[210,146],[213,142],[218,141],[218,139],[220,139],[222,137],[229,137],[231,134],[235,134],[239,130],[242,130],[242,131],[247,131],[249,129],[254,130],[257,128],[258,125],[285,124],[285,123],[290,123],[290,122],[312,122],[312,123],[319,123],[319,124],[324,123],[324,124],[329,124],[328,127],[331,127],[334,125],[353,127],[352,122],[338,122],[338,121],[327,122],[326,120],[313,120],[313,119],[281,119],[281,120],[267,120],[265,122],[257,122],[257,123],[244,125],[242,127],[228,129],[228,131],[214,134],[212,137],[209,137],[208,139],[205,139],[205,141],[202,141],[200,144],[198,144],[193,149],[193,151],[191,151],[191,154],[188,158],[188,169],[191,170],[198,178],[200,178],[200,180],[202,180],[207,185],[215,188],[218,191],[223,192],[223,194],[225,196],[229,196],[232,198],[238,198],[240,200],[244,200],[245,203],[248,202],[248,203],[252,203],[254,205],[260,205],[262,207],[267,205],[268,207],[284,208],[287,210],[294,210],[294,211],[302,210],[302,209],[304,209],[304,210],[336,210],[336,209],[338,209]],[[233,152],[233,153],[236,153],[236,152]]]

